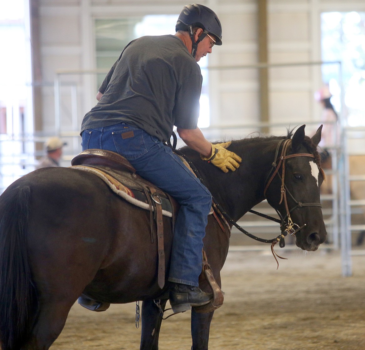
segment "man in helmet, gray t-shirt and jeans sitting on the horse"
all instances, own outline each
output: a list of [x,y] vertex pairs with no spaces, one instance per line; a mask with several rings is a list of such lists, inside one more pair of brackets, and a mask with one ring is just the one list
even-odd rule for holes
[[203,79],[197,62],[214,45],[222,45],[217,15],[204,5],[185,6],[176,34],[144,36],[123,49],[99,87],[99,102],[81,125],[83,150],[101,148],[123,155],[140,176],[180,204],[168,277],[174,312],[212,300],[198,283],[212,197],[164,142],[176,126],[185,144],[212,166],[228,173],[241,162],[227,150],[230,142],[213,145],[197,127]]

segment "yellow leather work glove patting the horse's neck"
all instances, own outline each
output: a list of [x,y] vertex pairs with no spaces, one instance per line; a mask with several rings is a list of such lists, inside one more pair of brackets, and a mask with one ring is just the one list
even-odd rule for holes
[[238,169],[242,158],[234,152],[226,150],[230,144],[231,141],[212,144],[212,154],[207,158],[203,157],[203,155],[200,155],[200,158],[203,159],[203,161],[211,162],[225,173],[228,173],[228,169],[234,172],[236,169]]

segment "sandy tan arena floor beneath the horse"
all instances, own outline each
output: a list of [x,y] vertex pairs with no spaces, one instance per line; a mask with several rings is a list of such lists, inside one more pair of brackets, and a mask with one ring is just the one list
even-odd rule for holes
[[[210,350],[364,350],[365,256],[342,277],[339,252],[230,252],[225,299],[211,325]],[[135,303],[91,312],[75,304],[51,350],[137,350]],[[189,350],[190,312],[163,321],[160,350]]]

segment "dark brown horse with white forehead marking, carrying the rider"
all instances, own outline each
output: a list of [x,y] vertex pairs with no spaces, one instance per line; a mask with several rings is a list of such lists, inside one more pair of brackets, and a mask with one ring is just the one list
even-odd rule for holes
[[[296,244],[315,251],[326,239],[318,206],[323,178],[316,151],[322,127],[312,139],[304,135],[304,127],[287,143],[284,158],[281,140],[291,135],[233,141],[230,150],[242,157],[242,164],[228,174],[192,150],[181,151],[234,221],[266,197],[286,221],[290,212],[293,223],[306,224],[295,234]],[[272,176],[274,161],[278,167]],[[168,217],[164,230],[168,276]],[[229,230],[223,232],[210,215],[204,249],[219,284],[229,237]],[[0,196],[1,349],[48,349],[81,293],[110,303],[142,300],[141,349],[158,349],[161,313],[153,300],[162,299],[164,308],[166,298],[157,283],[157,260],[149,211],[121,200],[94,174],[46,168],[23,176]],[[201,282],[207,290],[207,283]],[[208,348],[212,316],[192,310],[194,350]]]

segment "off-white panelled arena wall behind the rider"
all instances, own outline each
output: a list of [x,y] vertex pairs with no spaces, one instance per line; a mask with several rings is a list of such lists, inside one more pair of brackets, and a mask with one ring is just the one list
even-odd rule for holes
[[[249,67],[257,63],[257,1],[199,2],[218,14],[223,27],[223,45],[214,47],[210,55],[211,125],[257,123],[260,121],[258,72]],[[138,0],[132,4],[123,0],[41,0],[40,4],[44,129],[46,132],[57,129],[53,84],[58,76],[62,87],[61,131],[77,134],[82,117],[97,102],[95,79],[85,73],[95,69],[93,20],[175,14],[186,3],[176,0]],[[319,121],[320,110],[313,95],[322,84],[320,65],[309,63],[320,61],[320,12],[364,9],[363,2],[353,0],[346,4],[340,0],[268,1],[269,63],[308,63],[269,68],[270,122],[294,127],[302,121]],[[228,66],[235,68],[227,69]],[[84,73],[70,74],[70,71]],[[63,74],[59,74],[61,72]],[[70,97],[70,86],[77,86],[74,88],[77,105]],[[77,111],[73,116],[72,110]],[[285,127],[278,132],[284,131]]]

